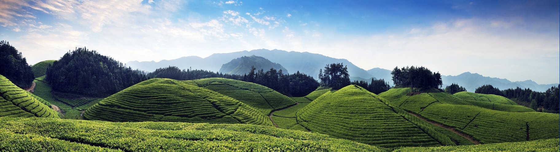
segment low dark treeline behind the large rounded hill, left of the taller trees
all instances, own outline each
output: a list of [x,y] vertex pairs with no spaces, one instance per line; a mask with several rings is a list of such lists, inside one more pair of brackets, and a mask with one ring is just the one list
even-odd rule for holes
[[169,78],[175,80],[194,80],[203,78],[228,78],[241,80],[243,77],[241,75],[235,74],[222,74],[214,73],[208,70],[198,70],[198,69],[179,69],[178,67],[169,66],[167,68],[158,68],[154,72],[147,74],[148,78]]

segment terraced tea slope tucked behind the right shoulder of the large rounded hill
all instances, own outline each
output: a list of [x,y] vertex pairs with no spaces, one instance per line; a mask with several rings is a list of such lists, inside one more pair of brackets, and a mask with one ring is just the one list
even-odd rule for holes
[[260,84],[226,78],[206,78],[184,81],[218,92],[249,105],[265,114],[296,104],[292,98],[284,96]]

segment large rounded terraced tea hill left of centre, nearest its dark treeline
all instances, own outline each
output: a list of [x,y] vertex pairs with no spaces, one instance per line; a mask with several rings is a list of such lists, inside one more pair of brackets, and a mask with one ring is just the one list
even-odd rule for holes
[[153,78],[113,94],[87,120],[241,123],[272,126],[268,116],[234,98],[178,80]]

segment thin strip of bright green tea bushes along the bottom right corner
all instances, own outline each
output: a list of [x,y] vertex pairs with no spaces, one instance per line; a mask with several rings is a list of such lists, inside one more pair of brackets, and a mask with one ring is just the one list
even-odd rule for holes
[[438,146],[431,148],[402,148],[397,149],[395,152],[408,152],[408,151],[542,151],[552,152],[558,151],[558,139],[544,139],[534,141],[522,141],[511,143],[498,143],[498,144],[484,144],[484,145],[467,145],[467,146]]

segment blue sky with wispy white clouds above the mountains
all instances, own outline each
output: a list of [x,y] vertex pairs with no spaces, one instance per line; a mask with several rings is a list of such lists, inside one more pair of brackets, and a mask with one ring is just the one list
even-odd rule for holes
[[558,1],[0,0],[29,64],[87,47],[123,63],[254,49],[558,83]]

